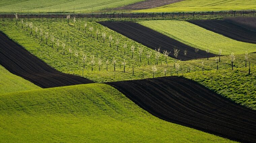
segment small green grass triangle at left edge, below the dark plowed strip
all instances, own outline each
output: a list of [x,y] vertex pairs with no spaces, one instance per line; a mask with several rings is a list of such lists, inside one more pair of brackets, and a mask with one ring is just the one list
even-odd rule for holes
[[0,94],[32,89],[40,89],[40,87],[22,77],[10,73],[0,65]]

